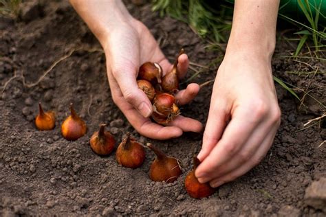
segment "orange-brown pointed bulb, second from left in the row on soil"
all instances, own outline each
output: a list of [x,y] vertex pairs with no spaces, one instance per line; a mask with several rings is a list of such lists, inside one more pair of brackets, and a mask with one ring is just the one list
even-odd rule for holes
[[71,115],[61,125],[61,133],[65,139],[74,141],[85,135],[87,127],[83,119],[77,115],[72,104],[70,104],[70,113]]

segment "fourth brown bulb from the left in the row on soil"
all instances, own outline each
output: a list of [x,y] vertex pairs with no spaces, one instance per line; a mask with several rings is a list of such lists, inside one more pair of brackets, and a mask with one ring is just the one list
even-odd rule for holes
[[116,159],[126,168],[139,168],[145,159],[144,147],[127,133],[127,137],[118,146]]

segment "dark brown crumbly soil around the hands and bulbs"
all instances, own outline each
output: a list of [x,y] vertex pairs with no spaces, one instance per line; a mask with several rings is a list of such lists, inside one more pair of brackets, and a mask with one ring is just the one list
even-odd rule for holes
[[[149,27],[168,57],[173,58],[180,47],[186,49],[191,61],[201,65],[222,55],[206,51],[206,44],[188,25],[160,18],[151,12],[151,5],[127,3],[127,8]],[[305,96],[304,105],[276,84],[283,115],[268,155],[248,174],[219,187],[210,198],[196,200],[186,194],[184,177],[191,170],[191,158],[199,151],[202,136],[185,133],[169,141],[140,136],[113,104],[105,56],[94,51],[100,45],[69,3],[52,1],[31,10],[36,12],[18,20],[0,19],[0,216],[326,215],[325,210],[308,206],[304,198],[309,185],[326,177],[326,144],[320,146],[326,139],[326,124],[303,126],[325,112],[320,104],[326,104],[325,62],[303,59],[306,65],[282,58],[294,49],[279,37],[272,63],[274,75],[298,87],[296,93]],[[69,52],[71,56],[43,76]],[[215,78],[217,67],[193,81]],[[316,69],[317,73],[309,73]],[[183,115],[205,123],[212,86],[206,85],[196,100],[184,106]],[[309,91],[313,98],[301,90]],[[56,112],[54,130],[36,130],[38,102]],[[88,126],[87,135],[77,141],[65,140],[60,131],[70,102]],[[89,148],[89,137],[102,122],[110,126],[118,142],[131,132],[136,139],[177,157],[184,174],[174,183],[151,181],[149,165],[154,155],[148,150],[144,165],[135,170],[118,165],[115,152],[98,157]],[[325,198],[319,202],[325,203]]]

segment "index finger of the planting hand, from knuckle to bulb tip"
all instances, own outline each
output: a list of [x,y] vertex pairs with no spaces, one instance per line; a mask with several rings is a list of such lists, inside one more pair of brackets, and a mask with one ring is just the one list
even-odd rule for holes
[[201,182],[208,181],[210,179],[208,174],[213,173],[220,165],[229,161],[240,150],[241,146],[246,144],[246,141],[259,124],[257,119],[261,119],[253,117],[254,115],[250,114],[250,112],[248,109],[236,111],[234,117],[224,130],[221,140],[218,141],[217,145],[210,151],[195,172],[197,178],[202,178]]

